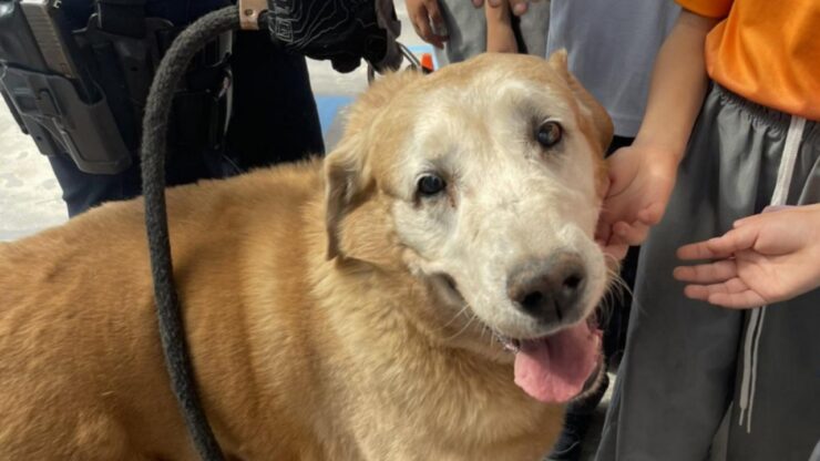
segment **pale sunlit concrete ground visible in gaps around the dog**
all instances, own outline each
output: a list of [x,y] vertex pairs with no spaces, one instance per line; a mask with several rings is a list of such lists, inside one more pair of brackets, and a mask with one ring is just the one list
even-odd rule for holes
[[[419,50],[423,43],[407,20],[403,2],[397,2],[397,9],[402,20],[402,42]],[[316,61],[309,62],[308,68],[330,147],[338,140],[340,129],[335,115],[367,88],[366,71],[360,68],[350,74],[338,74],[329,63]],[[68,214],[60,195],[61,189],[48,158],[39,153],[29,136],[20,132],[6,104],[0,103],[0,242],[64,223]],[[583,460],[594,457],[606,402],[608,392],[593,418]]]

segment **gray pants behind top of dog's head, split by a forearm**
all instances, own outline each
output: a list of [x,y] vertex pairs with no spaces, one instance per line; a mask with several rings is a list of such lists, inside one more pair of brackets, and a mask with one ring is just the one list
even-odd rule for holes
[[[439,4],[450,35],[443,51],[435,49],[435,59],[440,63],[461,62],[486,51],[486,20],[483,9],[473,7],[469,0],[439,0]],[[527,54],[544,57],[550,2],[530,3],[527,13],[520,20]]]

